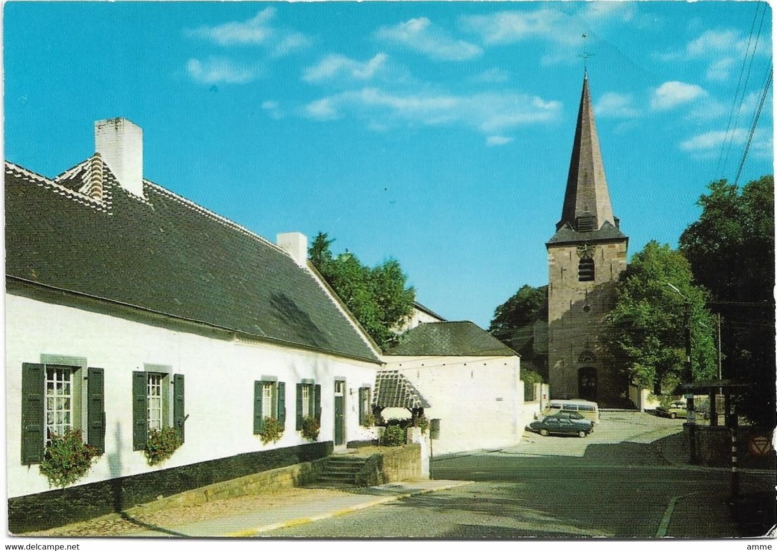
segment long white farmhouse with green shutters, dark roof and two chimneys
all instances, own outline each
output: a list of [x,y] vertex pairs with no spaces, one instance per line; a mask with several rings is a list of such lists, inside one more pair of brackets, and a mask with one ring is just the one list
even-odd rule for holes
[[[305,236],[273,244],[143,178],[129,120],[95,134],[96,154],[57,178],[5,163],[12,532],[375,438],[360,419],[380,352],[308,264]],[[270,417],[283,435],[263,444]],[[148,435],[165,427],[183,445],[149,466]],[[99,459],[54,489],[40,461],[68,429]]]

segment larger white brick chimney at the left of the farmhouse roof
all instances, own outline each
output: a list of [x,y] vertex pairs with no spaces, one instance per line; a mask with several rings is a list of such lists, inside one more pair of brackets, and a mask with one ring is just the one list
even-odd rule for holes
[[98,120],[95,151],[116,176],[121,187],[143,197],[143,129],[130,120]]

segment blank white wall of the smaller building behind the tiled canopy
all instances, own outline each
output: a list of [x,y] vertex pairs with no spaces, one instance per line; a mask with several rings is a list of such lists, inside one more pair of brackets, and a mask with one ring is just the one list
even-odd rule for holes
[[521,442],[524,387],[517,356],[384,356],[431,404],[441,420],[434,455],[498,448]]

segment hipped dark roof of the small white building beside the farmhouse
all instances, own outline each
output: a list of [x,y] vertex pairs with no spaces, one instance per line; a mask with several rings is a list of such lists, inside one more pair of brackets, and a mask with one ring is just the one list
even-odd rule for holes
[[399,345],[386,352],[399,356],[510,356],[513,350],[472,321],[420,324],[402,334]]

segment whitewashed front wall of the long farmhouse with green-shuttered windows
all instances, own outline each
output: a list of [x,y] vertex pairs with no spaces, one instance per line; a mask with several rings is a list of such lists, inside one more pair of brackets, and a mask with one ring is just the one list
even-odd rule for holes
[[[21,369],[41,354],[85,357],[105,370],[106,450],[78,483],[167,469],[239,453],[308,443],[294,430],[295,384],[322,386],[319,441],[334,439],[334,380],[347,382],[347,441],[375,438],[358,422],[360,386],[373,386],[377,364],[268,344],[244,344],[127,321],[73,307],[6,294],[6,431],[8,497],[50,490],[38,466],[21,464]],[[186,442],[162,465],[149,467],[132,449],[133,370],[170,366],[185,376]],[[286,383],[286,430],[277,444],[253,435],[253,382]]]

